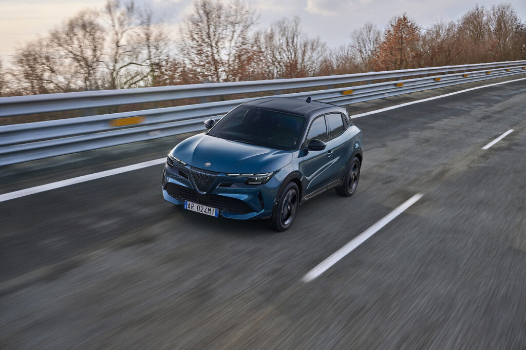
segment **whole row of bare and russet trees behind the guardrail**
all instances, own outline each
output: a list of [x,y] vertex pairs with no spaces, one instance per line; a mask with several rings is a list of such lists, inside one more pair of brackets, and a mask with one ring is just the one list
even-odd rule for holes
[[422,28],[406,14],[371,23],[329,48],[298,17],[258,26],[240,0],[195,0],[177,33],[133,2],[108,0],[0,62],[0,96],[202,82],[297,78],[526,59],[526,23],[510,4],[475,6]]

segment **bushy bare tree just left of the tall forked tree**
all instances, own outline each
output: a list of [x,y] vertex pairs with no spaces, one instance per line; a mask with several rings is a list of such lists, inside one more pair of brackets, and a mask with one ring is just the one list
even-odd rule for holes
[[[105,31],[98,24],[99,14],[92,10],[80,12],[64,26],[52,31],[50,45],[64,56],[63,65],[80,72],[79,89],[98,90],[101,86]],[[73,82],[74,83],[74,82]]]

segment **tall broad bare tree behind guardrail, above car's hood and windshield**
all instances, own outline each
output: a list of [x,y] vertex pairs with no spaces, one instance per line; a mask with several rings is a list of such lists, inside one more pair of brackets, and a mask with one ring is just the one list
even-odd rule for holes
[[254,48],[250,32],[258,15],[239,0],[196,0],[180,30],[179,49],[197,81],[235,81]]

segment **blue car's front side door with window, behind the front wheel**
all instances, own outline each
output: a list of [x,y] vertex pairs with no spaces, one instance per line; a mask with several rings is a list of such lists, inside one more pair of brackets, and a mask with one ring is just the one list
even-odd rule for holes
[[[325,116],[320,115],[312,121],[305,140],[305,147],[310,140],[318,139],[327,142],[328,133]],[[328,184],[328,171],[332,160],[327,156],[327,149],[323,151],[301,151],[299,168],[304,175],[304,194],[308,196]]]

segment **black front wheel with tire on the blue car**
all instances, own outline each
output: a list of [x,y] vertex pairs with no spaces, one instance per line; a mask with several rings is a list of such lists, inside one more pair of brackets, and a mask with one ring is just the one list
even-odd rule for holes
[[299,189],[298,185],[290,182],[281,191],[278,203],[272,215],[272,228],[276,231],[285,231],[294,222],[299,208]]

